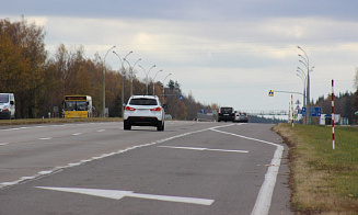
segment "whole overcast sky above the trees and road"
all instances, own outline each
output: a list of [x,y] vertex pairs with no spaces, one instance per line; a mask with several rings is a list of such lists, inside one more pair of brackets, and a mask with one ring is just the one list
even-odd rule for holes
[[[46,49],[84,46],[85,56],[116,53],[149,76],[177,80],[184,94],[236,110],[288,110],[302,92],[298,54],[308,57],[311,99],[353,92],[358,66],[357,0],[0,0],[0,18],[44,26]],[[119,68],[109,54],[106,63]],[[136,67],[137,77],[145,72]],[[168,80],[166,80],[168,82]],[[92,95],[95,97],[95,95]],[[302,102],[302,95],[293,94]]]

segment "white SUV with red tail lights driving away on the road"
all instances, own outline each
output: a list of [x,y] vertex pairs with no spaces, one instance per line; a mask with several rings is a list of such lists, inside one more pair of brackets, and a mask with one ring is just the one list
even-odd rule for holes
[[164,108],[157,95],[132,95],[124,111],[124,129],[137,125],[154,126],[157,131],[164,131]]

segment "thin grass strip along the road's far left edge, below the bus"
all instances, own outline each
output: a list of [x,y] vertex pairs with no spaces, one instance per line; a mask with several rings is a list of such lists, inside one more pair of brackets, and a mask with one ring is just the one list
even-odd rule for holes
[[0,120],[0,126],[30,125],[30,124],[59,124],[79,122],[122,122],[119,117],[91,117],[91,118],[26,118],[26,120]]

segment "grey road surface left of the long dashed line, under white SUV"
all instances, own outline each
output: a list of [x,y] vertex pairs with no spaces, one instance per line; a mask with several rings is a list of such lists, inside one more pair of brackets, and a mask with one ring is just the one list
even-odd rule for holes
[[[190,122],[168,122],[164,133],[152,127],[123,131],[123,123],[80,123],[0,128],[0,188],[21,177],[76,163],[103,154],[148,144],[197,129]],[[185,125],[185,126],[183,126]],[[147,131],[147,132],[145,132]]]

